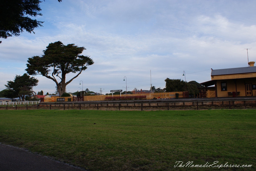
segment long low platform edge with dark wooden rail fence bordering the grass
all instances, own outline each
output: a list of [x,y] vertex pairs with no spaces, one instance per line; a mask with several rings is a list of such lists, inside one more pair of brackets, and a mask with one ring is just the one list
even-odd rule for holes
[[192,100],[192,101],[105,101],[105,102],[66,102],[40,103],[37,105],[1,105],[2,110],[29,109],[93,109],[93,110],[177,110],[177,109],[247,109],[256,108],[256,99],[234,100]]

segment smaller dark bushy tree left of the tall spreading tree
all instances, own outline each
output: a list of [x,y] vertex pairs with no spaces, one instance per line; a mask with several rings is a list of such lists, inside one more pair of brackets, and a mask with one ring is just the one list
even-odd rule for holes
[[8,91],[5,95],[11,99],[19,97],[20,101],[24,101],[25,95],[32,95],[34,93],[32,88],[37,86],[37,84],[38,80],[30,77],[28,74],[16,75],[13,81],[7,81],[5,87],[7,87]]

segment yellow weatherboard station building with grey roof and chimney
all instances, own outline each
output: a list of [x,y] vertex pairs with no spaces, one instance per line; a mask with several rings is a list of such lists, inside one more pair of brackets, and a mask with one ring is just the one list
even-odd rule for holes
[[201,85],[215,86],[215,97],[256,96],[256,66],[217,69],[211,72],[211,80]]

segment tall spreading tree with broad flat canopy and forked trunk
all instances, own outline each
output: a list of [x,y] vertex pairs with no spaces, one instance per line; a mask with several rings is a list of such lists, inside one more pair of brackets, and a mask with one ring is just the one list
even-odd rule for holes
[[[90,57],[80,55],[85,48],[75,44],[63,45],[57,41],[50,43],[46,48],[42,57],[28,58],[26,71],[29,75],[39,74],[53,80],[61,96],[65,92],[66,86],[94,62]],[[66,82],[66,75],[69,73],[76,75]]]

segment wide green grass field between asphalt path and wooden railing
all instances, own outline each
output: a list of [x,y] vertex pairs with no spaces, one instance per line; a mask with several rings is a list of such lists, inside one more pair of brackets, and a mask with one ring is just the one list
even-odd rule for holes
[[2,110],[0,142],[93,171],[256,170],[256,110]]

